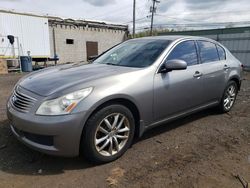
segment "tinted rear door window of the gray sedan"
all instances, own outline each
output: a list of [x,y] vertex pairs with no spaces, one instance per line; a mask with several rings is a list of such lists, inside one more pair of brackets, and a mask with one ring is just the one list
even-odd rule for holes
[[216,45],[208,41],[198,41],[200,57],[202,63],[219,61]]

